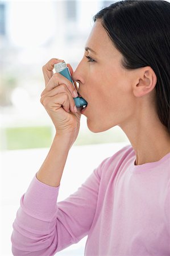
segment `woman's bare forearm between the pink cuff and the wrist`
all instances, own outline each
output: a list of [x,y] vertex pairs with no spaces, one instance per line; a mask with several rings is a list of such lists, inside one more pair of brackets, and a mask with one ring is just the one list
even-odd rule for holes
[[72,144],[71,136],[55,136],[48,155],[36,174],[39,181],[52,187],[58,187],[60,185],[65,162]]

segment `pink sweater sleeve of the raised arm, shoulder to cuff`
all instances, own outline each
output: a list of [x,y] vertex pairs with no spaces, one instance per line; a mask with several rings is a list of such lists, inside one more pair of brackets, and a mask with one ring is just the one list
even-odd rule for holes
[[35,176],[16,213],[13,254],[51,256],[85,237],[96,212],[100,170],[101,166],[77,192],[59,203],[59,187],[46,185]]

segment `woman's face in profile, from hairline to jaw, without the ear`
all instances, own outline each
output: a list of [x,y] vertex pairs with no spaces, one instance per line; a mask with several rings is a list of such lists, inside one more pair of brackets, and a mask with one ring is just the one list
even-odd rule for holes
[[121,53],[97,20],[84,56],[73,73],[73,80],[79,83],[78,93],[88,102],[83,114],[93,132],[121,126],[130,120],[135,108],[132,70],[123,68],[121,59]]

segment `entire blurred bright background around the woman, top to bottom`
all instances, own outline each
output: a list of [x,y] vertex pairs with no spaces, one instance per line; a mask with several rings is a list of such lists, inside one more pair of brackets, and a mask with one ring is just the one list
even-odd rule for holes
[[[47,156],[55,134],[40,103],[44,90],[42,66],[56,57],[76,69],[93,26],[93,15],[113,2],[1,0],[1,255],[12,255],[10,236],[20,197]],[[59,200],[77,190],[104,158],[126,144],[128,139],[119,127],[95,134],[88,130],[82,115]],[[84,155],[88,161],[80,174]],[[84,255],[85,240],[57,255]]]

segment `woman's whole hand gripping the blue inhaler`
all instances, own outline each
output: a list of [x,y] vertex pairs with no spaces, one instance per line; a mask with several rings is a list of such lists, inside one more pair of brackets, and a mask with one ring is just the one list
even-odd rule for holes
[[[54,64],[61,61],[51,59],[43,66],[45,89],[41,94],[40,102],[55,125],[56,135],[70,136],[74,142],[80,129],[81,109],[75,108],[73,97],[77,97],[78,94],[73,93],[76,89],[72,82],[60,73],[53,74]],[[71,66],[68,67],[72,74]]]

